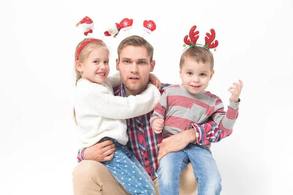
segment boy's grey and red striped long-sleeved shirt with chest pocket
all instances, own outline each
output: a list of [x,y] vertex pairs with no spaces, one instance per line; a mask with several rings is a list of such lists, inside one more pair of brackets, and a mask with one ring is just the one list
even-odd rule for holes
[[[222,130],[222,136],[226,135],[227,137],[228,134],[230,135],[238,117],[239,104],[240,102],[230,101],[226,113],[223,102],[219,97],[207,91],[192,94],[182,84],[171,85],[162,94],[150,118],[150,122],[153,125],[155,119],[163,118],[165,120],[162,133],[165,138],[188,130],[190,126],[194,127],[198,124],[207,123],[209,118],[211,118],[218,125],[219,129]],[[212,130],[212,124],[209,128]],[[206,133],[199,129],[197,135]],[[212,132],[209,133],[212,134]],[[221,132],[216,133],[219,134]],[[209,142],[206,144],[209,144]]]

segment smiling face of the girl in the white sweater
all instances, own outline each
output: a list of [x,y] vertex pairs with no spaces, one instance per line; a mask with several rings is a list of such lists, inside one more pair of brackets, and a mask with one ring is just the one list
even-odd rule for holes
[[103,47],[95,47],[82,63],[82,78],[102,83],[109,75],[109,52]]

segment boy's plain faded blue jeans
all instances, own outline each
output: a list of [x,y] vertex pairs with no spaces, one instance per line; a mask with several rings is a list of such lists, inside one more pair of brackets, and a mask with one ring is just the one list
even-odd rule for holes
[[178,152],[164,156],[159,165],[160,195],[179,195],[179,176],[190,160],[198,181],[198,195],[219,195],[221,176],[208,147],[188,144]]

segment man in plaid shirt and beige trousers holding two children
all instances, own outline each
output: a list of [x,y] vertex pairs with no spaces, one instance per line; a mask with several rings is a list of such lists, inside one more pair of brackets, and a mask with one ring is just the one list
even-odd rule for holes
[[[149,73],[155,67],[155,60],[152,57],[153,47],[139,36],[130,36],[119,44],[116,69],[120,71],[122,83],[114,88],[115,96],[135,96],[146,89]],[[168,84],[163,84],[161,92],[168,86]],[[220,136],[216,136],[216,138],[207,136],[208,131],[211,135],[210,132],[217,130],[214,122],[209,121],[206,125],[192,125],[192,129],[163,139],[161,135],[156,135],[151,129],[149,123],[151,114],[152,112],[126,120],[129,136],[127,146],[146,169],[155,183],[156,193],[159,195],[157,169],[163,156],[182,150],[188,143],[205,144],[207,140],[216,142],[228,135],[219,134]],[[204,132],[204,135],[201,132]],[[212,135],[215,134],[212,133]],[[160,150],[158,151],[158,149]],[[129,195],[108,169],[100,163],[111,160],[114,151],[115,144],[110,140],[79,151],[79,164],[73,171],[74,195]],[[180,194],[196,194],[196,191],[197,181],[189,162],[180,176]]]

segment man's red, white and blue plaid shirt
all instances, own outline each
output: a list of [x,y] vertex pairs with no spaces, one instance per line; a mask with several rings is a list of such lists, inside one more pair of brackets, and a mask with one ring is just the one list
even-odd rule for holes
[[[170,84],[162,84],[161,94]],[[127,97],[124,90],[124,85],[121,83],[114,89],[115,96]],[[147,113],[146,115],[128,118],[127,123],[127,134],[129,141],[127,146],[135,154],[140,163],[145,167],[148,175],[155,179],[158,177],[158,144],[161,143],[163,137],[161,134],[155,134],[151,128],[149,119],[153,112]],[[224,137],[228,137],[232,131],[224,132],[218,129],[218,126],[214,121],[210,120],[205,124],[190,124],[190,128],[194,128],[196,132],[196,144],[210,145],[212,142],[218,142]],[[84,149],[78,152],[77,161],[80,162],[84,159]]]

